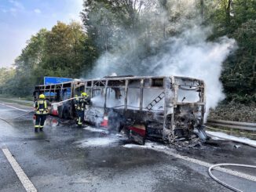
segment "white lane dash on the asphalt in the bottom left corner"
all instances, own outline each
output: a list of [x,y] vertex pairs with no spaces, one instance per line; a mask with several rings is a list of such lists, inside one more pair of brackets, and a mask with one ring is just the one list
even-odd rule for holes
[[5,157],[9,161],[9,164],[12,165],[14,172],[16,172],[16,175],[19,177],[20,182],[23,184],[25,190],[27,192],[35,192],[37,191],[33,183],[31,183],[31,180],[28,179],[20,165],[17,163],[15,158],[13,158],[13,155],[7,148],[2,149],[2,152],[5,154]]

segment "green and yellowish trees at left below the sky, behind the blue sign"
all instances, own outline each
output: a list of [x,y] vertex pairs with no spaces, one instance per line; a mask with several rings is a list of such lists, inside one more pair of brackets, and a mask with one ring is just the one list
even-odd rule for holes
[[79,78],[82,71],[90,70],[95,59],[95,49],[82,26],[58,22],[51,31],[42,29],[31,37],[15,60],[15,70],[6,73],[1,69],[8,76],[1,74],[2,91],[31,95],[35,85],[43,83],[44,76]]

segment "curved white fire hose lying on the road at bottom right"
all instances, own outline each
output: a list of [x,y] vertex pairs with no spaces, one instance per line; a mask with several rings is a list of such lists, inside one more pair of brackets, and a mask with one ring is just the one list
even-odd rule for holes
[[[220,183],[221,185],[223,185],[224,187],[229,188],[230,190],[236,191],[236,192],[243,192],[243,190],[239,190],[236,187],[232,187],[231,185],[221,181],[220,179],[218,179],[217,177],[215,177],[211,170],[215,167],[219,167],[219,166],[238,166],[238,167],[246,167],[246,168],[256,168],[256,166],[254,165],[243,165],[243,164],[231,164],[231,163],[221,163],[221,164],[216,164],[216,165],[212,165],[210,166],[210,168],[208,168],[208,174],[209,176],[214,179],[216,182]],[[254,180],[254,182],[256,182],[256,179],[253,178],[252,180]]]

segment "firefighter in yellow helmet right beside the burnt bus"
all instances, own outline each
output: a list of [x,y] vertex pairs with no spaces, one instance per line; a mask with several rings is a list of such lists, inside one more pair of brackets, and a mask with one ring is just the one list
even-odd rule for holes
[[87,104],[89,104],[88,95],[86,92],[82,92],[81,97],[79,98],[79,101],[78,101],[77,107],[76,107],[76,113],[78,115],[77,125],[79,125],[79,127],[82,126],[82,122],[84,121],[85,110],[86,110]]

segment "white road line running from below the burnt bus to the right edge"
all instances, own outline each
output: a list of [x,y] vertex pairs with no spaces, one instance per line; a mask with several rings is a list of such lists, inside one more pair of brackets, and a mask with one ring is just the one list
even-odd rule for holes
[[[201,166],[204,166],[204,167],[207,167],[207,168],[210,168],[210,166],[213,165],[213,164],[210,164],[206,161],[201,161],[201,160],[198,160],[198,159],[195,159],[195,158],[188,158],[187,156],[183,156],[181,154],[176,154],[176,153],[170,151],[170,148],[168,148],[168,147],[163,147],[163,146],[159,146],[159,147],[154,146],[154,147],[152,147],[151,145],[137,146],[137,145],[130,145],[130,144],[125,145],[124,147],[128,147],[128,148],[137,147],[137,148],[148,148],[148,149],[152,149],[152,150],[157,150],[157,151],[163,152],[164,154],[169,154],[169,155],[173,156],[174,158],[179,158],[179,159],[182,159],[182,160],[185,160],[185,161],[189,161],[189,162],[192,162],[194,164],[201,165]],[[221,167],[214,168],[214,170],[218,170],[220,172],[228,173],[229,175],[232,175],[232,176],[238,176],[240,178],[248,179],[248,180],[256,182],[256,176],[251,176],[251,175],[248,175],[248,174],[243,173],[243,172],[236,172],[236,171],[233,171],[229,168],[221,168]]]

